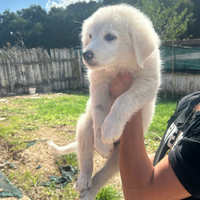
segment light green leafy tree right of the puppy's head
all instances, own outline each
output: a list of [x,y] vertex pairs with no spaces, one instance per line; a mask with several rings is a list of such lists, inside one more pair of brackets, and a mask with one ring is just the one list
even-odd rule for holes
[[140,0],[136,6],[153,22],[161,40],[177,40],[193,22],[190,0]]

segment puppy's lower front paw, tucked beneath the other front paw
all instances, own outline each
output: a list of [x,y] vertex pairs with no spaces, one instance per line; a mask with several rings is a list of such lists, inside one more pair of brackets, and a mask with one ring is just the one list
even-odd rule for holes
[[108,158],[113,151],[114,144],[104,144],[100,139],[95,141],[94,147],[102,157]]

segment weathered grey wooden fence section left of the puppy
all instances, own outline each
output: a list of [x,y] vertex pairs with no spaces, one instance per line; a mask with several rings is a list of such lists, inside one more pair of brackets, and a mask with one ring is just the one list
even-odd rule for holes
[[[79,52],[78,52],[79,55]],[[70,49],[0,50],[0,96],[63,91],[84,86],[80,55]]]

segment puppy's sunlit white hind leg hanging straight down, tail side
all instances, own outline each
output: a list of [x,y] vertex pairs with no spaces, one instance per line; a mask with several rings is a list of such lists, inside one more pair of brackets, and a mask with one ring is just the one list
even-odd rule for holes
[[94,133],[90,112],[82,115],[78,121],[77,142],[80,175],[76,182],[76,190],[81,192],[92,186]]

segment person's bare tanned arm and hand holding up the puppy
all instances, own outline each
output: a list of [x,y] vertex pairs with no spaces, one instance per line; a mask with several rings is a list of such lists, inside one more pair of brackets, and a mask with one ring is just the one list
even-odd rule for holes
[[[128,89],[130,80],[123,76],[120,79],[111,84],[111,93],[115,98]],[[140,110],[126,124],[120,139],[119,165],[125,199],[178,200],[191,196],[176,177],[168,156],[155,167],[151,160],[145,150]]]

